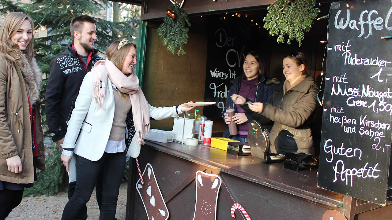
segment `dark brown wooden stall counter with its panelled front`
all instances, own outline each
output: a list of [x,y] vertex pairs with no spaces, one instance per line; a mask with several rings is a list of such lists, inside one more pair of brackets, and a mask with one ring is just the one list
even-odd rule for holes
[[[152,165],[170,220],[193,218],[194,180],[198,170],[220,175],[222,179],[217,220],[231,219],[230,209],[234,203],[241,204],[253,220],[321,220],[328,209],[341,212],[343,209],[343,195],[317,188],[318,169],[296,172],[283,168],[283,162],[261,164],[251,156],[236,157],[201,144],[189,146],[176,142],[146,141],[138,159],[142,172],[147,163]],[[129,172],[127,219],[146,220],[142,200],[135,188],[139,179],[135,166],[133,160]],[[242,213],[236,210],[236,219],[245,219],[241,216]]]

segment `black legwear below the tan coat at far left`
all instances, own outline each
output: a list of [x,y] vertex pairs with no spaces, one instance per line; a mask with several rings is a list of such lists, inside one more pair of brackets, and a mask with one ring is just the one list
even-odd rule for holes
[[0,190],[0,220],[4,220],[12,209],[22,202],[22,190],[3,189]]

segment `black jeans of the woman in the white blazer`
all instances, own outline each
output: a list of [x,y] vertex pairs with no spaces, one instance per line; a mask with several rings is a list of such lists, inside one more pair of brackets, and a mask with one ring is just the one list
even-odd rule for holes
[[113,220],[124,169],[125,152],[105,152],[97,161],[76,155],[75,193],[65,205],[61,219],[74,220],[80,217],[83,207],[90,200],[97,179],[102,178],[102,207],[99,219]]

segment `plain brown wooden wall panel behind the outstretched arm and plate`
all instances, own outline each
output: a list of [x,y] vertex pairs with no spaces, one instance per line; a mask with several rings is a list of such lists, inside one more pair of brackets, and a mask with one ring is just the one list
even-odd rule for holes
[[[191,31],[185,56],[172,55],[163,46],[155,27],[149,27],[143,92],[152,106],[174,106],[188,101],[203,101],[207,35]],[[203,112],[203,108],[200,108]],[[172,130],[173,118],[152,121],[151,128]]]

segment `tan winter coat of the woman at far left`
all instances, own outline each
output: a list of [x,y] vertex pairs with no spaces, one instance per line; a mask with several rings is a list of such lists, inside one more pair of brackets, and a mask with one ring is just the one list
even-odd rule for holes
[[[45,170],[45,147],[41,127],[40,86],[42,75],[35,60],[28,62],[17,52],[0,52],[0,180],[13,183],[32,183],[34,181],[32,132],[27,96],[30,89],[30,102],[35,103],[35,130],[38,157],[36,167]],[[19,155],[22,173],[11,173],[6,159]]]

